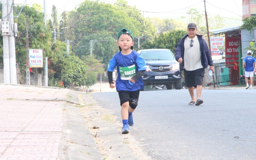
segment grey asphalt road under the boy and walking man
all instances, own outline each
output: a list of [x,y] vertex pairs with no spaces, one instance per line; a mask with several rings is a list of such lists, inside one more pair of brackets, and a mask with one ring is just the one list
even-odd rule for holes
[[[121,121],[117,92],[91,96]],[[130,133],[154,160],[255,160],[255,91],[202,91],[200,106],[187,89],[141,91]]]

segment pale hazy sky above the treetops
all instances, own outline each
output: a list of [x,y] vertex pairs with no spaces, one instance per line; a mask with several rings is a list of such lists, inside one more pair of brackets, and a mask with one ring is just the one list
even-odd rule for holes
[[[43,7],[43,0],[14,0],[14,3],[24,3],[31,6],[38,3]],[[85,0],[46,0],[46,10],[48,17],[51,15],[51,8],[55,5],[59,14],[64,10],[74,10],[75,6]],[[87,0],[86,0],[87,1]],[[91,1],[91,0],[89,0]],[[116,0],[105,0],[105,3],[113,4]],[[126,0],[128,5],[136,6],[139,10],[144,11],[145,17],[159,17],[177,19],[186,16],[186,11],[190,8],[197,8],[200,13],[205,14],[203,0]],[[206,0],[206,11],[208,15],[218,15],[224,18],[224,21],[233,20],[231,26],[238,26],[242,16],[242,0]],[[161,12],[161,13],[158,13]]]

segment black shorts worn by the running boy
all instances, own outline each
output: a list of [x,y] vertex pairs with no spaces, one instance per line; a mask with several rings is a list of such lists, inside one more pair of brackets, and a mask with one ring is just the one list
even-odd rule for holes
[[132,109],[135,109],[138,105],[139,100],[139,90],[136,91],[127,91],[127,90],[120,90],[118,91],[120,105],[122,106],[123,103],[129,101],[129,105]]

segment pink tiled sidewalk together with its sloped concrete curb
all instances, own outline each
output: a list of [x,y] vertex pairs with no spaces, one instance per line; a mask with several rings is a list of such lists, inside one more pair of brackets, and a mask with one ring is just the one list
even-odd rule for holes
[[0,160],[101,160],[75,91],[0,83]]

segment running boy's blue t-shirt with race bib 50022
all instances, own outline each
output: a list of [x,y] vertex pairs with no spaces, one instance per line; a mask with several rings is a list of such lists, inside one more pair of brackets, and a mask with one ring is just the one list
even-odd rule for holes
[[[125,77],[126,73],[130,76],[134,76],[138,71],[147,69],[146,62],[141,55],[134,50],[131,51],[129,55],[122,55],[120,51],[110,60],[107,71],[113,72],[116,66],[118,76],[115,82],[115,87],[117,88],[117,91],[135,91],[144,89],[144,83],[141,77],[133,85],[129,83],[129,78],[131,77]],[[121,67],[121,70],[119,67]]]

